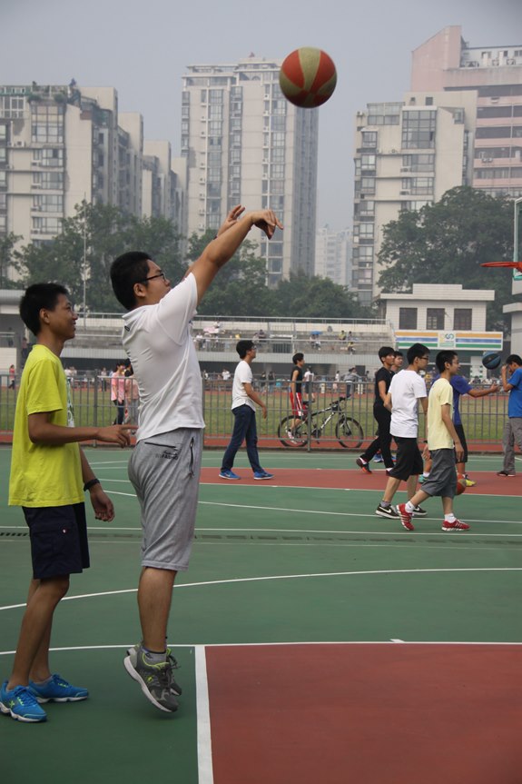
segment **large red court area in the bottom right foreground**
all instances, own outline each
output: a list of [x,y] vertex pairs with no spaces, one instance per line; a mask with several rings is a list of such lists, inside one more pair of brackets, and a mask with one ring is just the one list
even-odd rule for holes
[[520,784],[522,646],[206,649],[214,784]]

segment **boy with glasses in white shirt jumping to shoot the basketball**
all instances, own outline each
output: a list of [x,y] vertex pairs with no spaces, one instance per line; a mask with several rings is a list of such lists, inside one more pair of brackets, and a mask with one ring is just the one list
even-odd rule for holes
[[[233,207],[218,235],[172,288],[148,253],[123,253],[111,266],[113,292],[128,311],[123,347],[133,364],[140,406],[129,461],[142,512],[142,574],[138,607],[142,641],[125,669],[156,708],[177,710],[181,689],[166,646],[172,588],[192,549],[202,453],[202,379],[190,322],[203,294],[258,226],[269,239],[281,223],[271,210]],[[242,215],[242,217],[241,217]]]

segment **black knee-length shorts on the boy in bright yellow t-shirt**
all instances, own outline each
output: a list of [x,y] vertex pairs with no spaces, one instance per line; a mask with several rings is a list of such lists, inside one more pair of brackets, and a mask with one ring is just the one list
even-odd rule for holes
[[34,580],[64,577],[90,566],[85,504],[23,507]]

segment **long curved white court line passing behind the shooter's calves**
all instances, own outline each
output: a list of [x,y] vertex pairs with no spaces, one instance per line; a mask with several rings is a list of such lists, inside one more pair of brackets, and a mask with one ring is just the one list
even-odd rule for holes
[[[176,590],[182,588],[205,588],[209,585],[232,585],[240,582],[266,582],[276,580],[310,580],[314,577],[368,577],[369,575],[395,575],[395,574],[438,574],[449,572],[475,572],[475,571],[522,571],[522,566],[478,566],[478,567],[450,567],[444,569],[387,569],[365,571],[320,571],[304,574],[271,574],[258,577],[233,577],[228,580],[207,580],[202,582],[182,582],[175,586]],[[78,599],[98,599],[101,596],[118,596],[123,593],[136,593],[137,588],[124,588],[121,590],[102,590],[97,593],[80,593],[76,596],[64,596],[62,601],[75,601]],[[25,607],[22,604],[9,604],[0,607],[1,610],[17,610]]]

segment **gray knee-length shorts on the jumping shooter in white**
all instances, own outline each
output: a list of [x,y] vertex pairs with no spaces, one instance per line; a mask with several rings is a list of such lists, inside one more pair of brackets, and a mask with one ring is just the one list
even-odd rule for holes
[[142,508],[142,565],[186,571],[202,468],[202,430],[180,428],[136,444],[129,479]]

